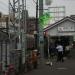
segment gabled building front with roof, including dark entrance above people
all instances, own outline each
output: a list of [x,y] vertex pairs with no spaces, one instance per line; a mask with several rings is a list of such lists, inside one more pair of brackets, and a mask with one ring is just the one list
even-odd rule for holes
[[64,46],[72,45],[75,41],[75,19],[74,16],[65,17],[44,29],[47,33],[48,46],[53,43],[61,43]]

